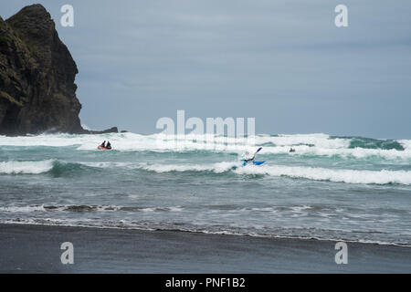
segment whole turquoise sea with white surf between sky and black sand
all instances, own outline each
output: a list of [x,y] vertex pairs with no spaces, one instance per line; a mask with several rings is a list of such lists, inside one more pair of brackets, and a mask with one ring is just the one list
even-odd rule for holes
[[[411,141],[206,138],[0,136],[0,223],[411,245]],[[233,170],[258,146],[267,162]]]

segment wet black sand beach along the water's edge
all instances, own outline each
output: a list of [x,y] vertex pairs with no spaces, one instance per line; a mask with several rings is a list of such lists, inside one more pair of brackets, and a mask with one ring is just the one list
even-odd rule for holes
[[[63,265],[63,242],[74,264]],[[28,224],[0,224],[1,273],[410,273],[411,248],[334,242]]]

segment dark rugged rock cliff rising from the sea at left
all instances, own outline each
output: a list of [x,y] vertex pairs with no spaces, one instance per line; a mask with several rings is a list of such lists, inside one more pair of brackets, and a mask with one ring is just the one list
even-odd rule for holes
[[80,124],[77,73],[42,5],[0,17],[0,134],[92,133]]

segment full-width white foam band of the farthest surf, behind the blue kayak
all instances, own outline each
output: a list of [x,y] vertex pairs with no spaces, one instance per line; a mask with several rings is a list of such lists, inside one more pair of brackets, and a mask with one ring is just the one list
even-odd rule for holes
[[[382,157],[388,160],[411,160],[411,141],[400,142],[405,151],[395,149],[349,148],[351,139],[330,138],[326,134],[297,134],[248,138],[214,137],[212,135],[141,135],[131,132],[101,135],[39,135],[29,137],[0,136],[0,146],[74,146],[79,151],[95,151],[102,141],[111,141],[116,151],[222,151],[241,154],[255,151],[259,145],[269,144],[261,154],[288,154],[290,147],[296,149],[292,155],[341,156],[342,158]],[[213,141],[209,143],[206,141]]]

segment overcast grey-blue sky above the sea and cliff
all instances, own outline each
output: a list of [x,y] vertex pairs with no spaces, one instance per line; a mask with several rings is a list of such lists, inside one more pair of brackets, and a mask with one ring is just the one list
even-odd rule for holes
[[[258,133],[411,139],[411,2],[37,1],[75,59],[82,124],[255,117]],[[31,1],[2,1],[14,15]],[[61,5],[74,27],[60,26]],[[348,6],[349,27],[334,25]]]

